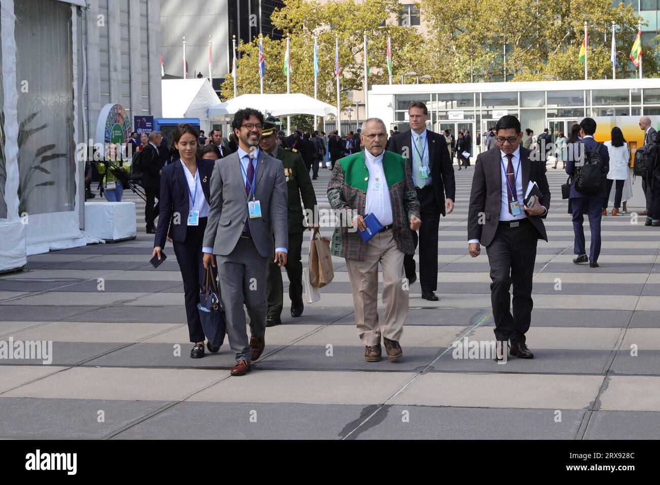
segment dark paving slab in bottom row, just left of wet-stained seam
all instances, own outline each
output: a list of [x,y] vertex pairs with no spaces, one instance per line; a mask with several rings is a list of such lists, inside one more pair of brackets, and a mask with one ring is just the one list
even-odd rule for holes
[[358,404],[184,402],[116,439],[339,439],[374,409]]

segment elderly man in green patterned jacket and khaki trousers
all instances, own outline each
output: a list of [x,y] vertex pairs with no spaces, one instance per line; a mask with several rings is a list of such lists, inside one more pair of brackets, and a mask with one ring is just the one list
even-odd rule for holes
[[[411,230],[421,224],[411,164],[385,151],[387,129],[378,118],[362,125],[362,151],[341,158],[328,184],[335,211],[350,213],[350,224],[335,228],[331,253],[346,258],[353,294],[355,322],[367,362],[381,360],[381,334],[389,360],[403,356],[399,340],[408,315],[408,284],[403,257],[414,254]],[[364,230],[364,217],[374,214],[383,225],[364,242],[354,229]],[[345,216],[344,216],[345,218]],[[378,321],[378,264],[383,268],[385,319]]]

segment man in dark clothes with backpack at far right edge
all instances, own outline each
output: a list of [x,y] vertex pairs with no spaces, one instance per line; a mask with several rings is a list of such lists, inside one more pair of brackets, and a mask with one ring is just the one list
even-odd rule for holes
[[[644,130],[644,146],[635,156],[633,172],[642,177],[642,189],[646,197],[645,226],[660,226],[660,164],[658,162],[659,142],[657,131],[651,126],[651,118],[640,118],[640,129]],[[644,155],[644,156],[642,156]]]

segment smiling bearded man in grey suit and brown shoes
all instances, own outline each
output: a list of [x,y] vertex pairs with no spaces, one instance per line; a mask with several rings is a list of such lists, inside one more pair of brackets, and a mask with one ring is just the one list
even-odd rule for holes
[[215,162],[202,250],[205,268],[215,267],[214,255],[217,259],[229,345],[236,352],[231,374],[245,375],[265,347],[268,258],[275,256],[275,263],[286,265],[287,191],[282,162],[259,150],[263,114],[239,110],[232,129],[238,150]]

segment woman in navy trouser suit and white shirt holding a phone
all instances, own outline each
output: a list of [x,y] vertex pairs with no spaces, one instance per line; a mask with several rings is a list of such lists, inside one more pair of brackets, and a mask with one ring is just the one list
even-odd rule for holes
[[[174,132],[174,146],[181,158],[162,169],[160,178],[160,215],[152,257],[158,255],[166,238],[172,239],[179,263],[185,293],[185,312],[190,341],[195,345],[191,358],[204,356],[204,331],[199,319],[199,289],[204,277],[202,242],[209,214],[213,160],[197,158],[199,133],[188,124],[180,124]],[[211,342],[211,352],[217,352]]]

